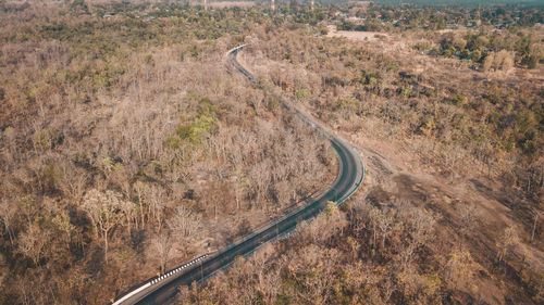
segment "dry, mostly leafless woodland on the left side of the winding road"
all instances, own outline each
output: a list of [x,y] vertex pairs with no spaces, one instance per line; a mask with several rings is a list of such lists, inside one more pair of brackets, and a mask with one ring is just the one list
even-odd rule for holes
[[1,13],[1,303],[104,304],[332,181],[327,143],[227,73],[249,12],[78,9]]

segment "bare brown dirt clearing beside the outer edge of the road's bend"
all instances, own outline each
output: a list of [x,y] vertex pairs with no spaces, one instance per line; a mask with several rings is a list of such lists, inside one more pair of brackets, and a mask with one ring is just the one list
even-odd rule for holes
[[[459,177],[450,180],[432,168],[418,163],[417,156],[407,157],[403,143],[380,141],[361,135],[357,137],[358,149],[368,168],[366,186],[359,191],[374,206],[412,205],[424,208],[436,217],[436,243],[433,252],[448,255],[448,249],[462,247],[470,251],[474,262],[474,275],[470,285],[460,284],[458,291],[447,298],[457,304],[528,304],[523,294],[516,290],[528,290],[522,284],[518,270],[523,255],[533,270],[542,270],[544,253],[535,245],[524,242],[527,229],[522,225],[522,211],[494,181],[485,177]],[[346,135],[346,138],[353,138]],[[412,170],[416,168],[417,170]],[[426,168],[426,169],[423,169]],[[369,179],[367,179],[369,178]],[[474,227],[465,236],[463,209],[473,206],[477,215]],[[521,242],[508,255],[508,263],[497,263],[497,241],[508,226],[517,226]],[[518,257],[511,259],[511,257]],[[527,268],[527,267],[526,267]],[[524,275],[523,272],[521,272]],[[508,279],[508,280],[505,280]],[[526,294],[527,295],[527,294]]]

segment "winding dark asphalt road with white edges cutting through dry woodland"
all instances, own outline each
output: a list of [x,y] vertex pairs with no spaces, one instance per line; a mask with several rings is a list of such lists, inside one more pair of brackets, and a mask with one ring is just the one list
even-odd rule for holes
[[[239,73],[244,74],[250,81],[256,82],[256,77],[242,66],[237,61],[237,54],[245,46],[237,47],[227,53],[230,64]],[[281,98],[280,98],[281,99]],[[214,254],[206,254],[177,268],[169,270],[164,276],[152,278],[137,287],[129,293],[121,296],[113,304],[165,304],[175,297],[177,288],[189,285],[194,281],[206,280],[217,271],[230,266],[237,256],[248,256],[262,244],[277,238],[288,236],[302,220],[308,220],[318,215],[326,207],[329,201],[337,205],[348,199],[360,186],[364,177],[364,166],[357,150],[344,139],[333,135],[323,126],[312,120],[310,116],[293,106],[287,101],[283,106],[297,113],[297,115],[311,125],[323,137],[331,141],[339,161],[339,173],[334,185],[317,199],[308,200],[308,203],[275,220],[242,241],[238,241]]]

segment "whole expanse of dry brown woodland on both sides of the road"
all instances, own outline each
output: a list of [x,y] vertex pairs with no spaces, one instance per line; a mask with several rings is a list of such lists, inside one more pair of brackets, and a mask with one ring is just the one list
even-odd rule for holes
[[[542,10],[490,41],[408,9],[354,41],[326,23],[364,14],[334,5],[0,9],[0,303],[108,303],[332,183],[271,92],[354,142],[366,181],[180,304],[544,302]],[[225,65],[240,43],[259,86]]]

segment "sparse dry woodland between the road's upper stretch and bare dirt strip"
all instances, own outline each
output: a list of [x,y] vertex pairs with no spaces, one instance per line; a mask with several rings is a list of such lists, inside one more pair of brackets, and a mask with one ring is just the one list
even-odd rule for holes
[[[338,43],[306,37],[305,31],[269,35],[249,49],[247,61],[258,75],[332,126],[346,132],[363,128],[376,138],[413,139],[410,149],[444,176],[477,166],[477,171],[497,177],[521,196],[540,200],[540,79],[474,74],[467,63],[452,61],[437,61],[434,71],[418,74],[418,64],[384,52],[383,43]],[[511,61],[502,54],[506,53],[492,54],[492,61]],[[368,120],[383,128],[369,130]]]

